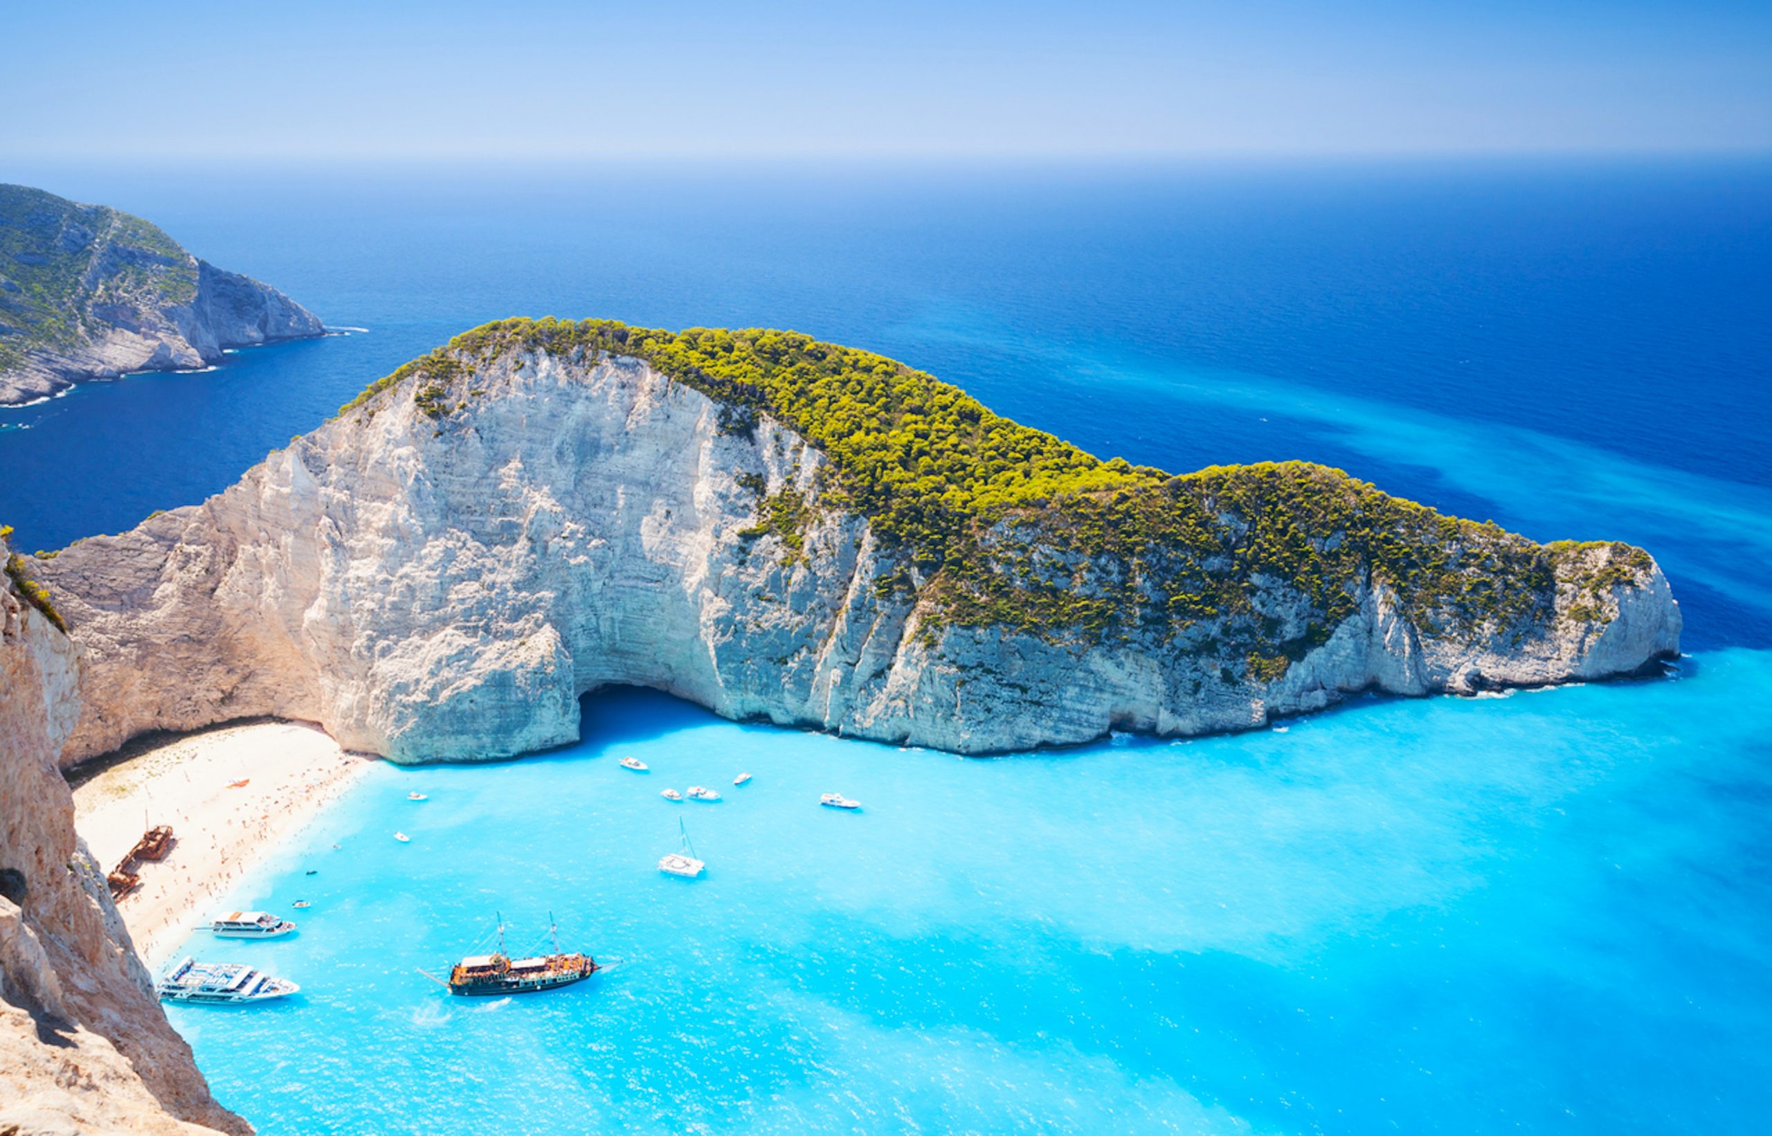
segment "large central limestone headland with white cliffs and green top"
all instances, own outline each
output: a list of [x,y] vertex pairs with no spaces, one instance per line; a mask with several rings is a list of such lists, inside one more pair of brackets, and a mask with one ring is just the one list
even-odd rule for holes
[[991,753],[1634,673],[1680,633],[1641,549],[1301,463],[1099,463],[890,360],[620,324],[461,337],[209,502],[34,569],[83,647],[64,760],[252,714],[505,757],[617,682]]

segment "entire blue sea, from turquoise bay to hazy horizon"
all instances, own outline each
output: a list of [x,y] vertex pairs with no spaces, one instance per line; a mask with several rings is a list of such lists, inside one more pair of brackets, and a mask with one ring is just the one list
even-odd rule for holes
[[[872,347],[1102,455],[1315,459],[1632,541],[1685,610],[1676,679],[1239,737],[960,760],[611,691],[565,751],[377,767],[237,893],[314,900],[229,948],[305,992],[172,1010],[262,1132],[1765,1127],[1772,163],[0,179],[358,330],[0,411],[27,549],[220,491],[468,326],[604,315]],[[689,783],[727,799],[657,796]],[[654,870],[679,817],[702,881]],[[415,973],[494,911],[620,962],[491,1003]]]

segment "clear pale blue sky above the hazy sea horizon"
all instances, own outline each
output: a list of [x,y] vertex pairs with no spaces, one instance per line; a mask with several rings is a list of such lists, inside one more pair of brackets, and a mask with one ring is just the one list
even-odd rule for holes
[[0,156],[1765,151],[1772,0],[0,0]]

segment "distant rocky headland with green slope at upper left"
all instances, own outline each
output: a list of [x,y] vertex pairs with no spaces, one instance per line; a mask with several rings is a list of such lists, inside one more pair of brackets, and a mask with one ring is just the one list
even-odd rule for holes
[[0,406],[323,333],[289,296],[138,216],[0,184]]

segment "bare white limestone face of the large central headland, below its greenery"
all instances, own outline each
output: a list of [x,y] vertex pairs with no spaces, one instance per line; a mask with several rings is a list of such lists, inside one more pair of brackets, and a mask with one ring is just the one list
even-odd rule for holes
[[[1474,691],[1632,673],[1678,650],[1646,562],[1598,604],[1559,569],[1554,613],[1464,640],[1382,585],[1272,682],[1210,642],[1084,640],[930,620],[875,585],[900,565],[820,496],[824,455],[638,360],[505,354],[432,420],[399,388],[195,507],[34,564],[83,647],[76,760],[151,728],[275,714],[402,762],[578,737],[578,696],[670,691],[728,718],[992,753],[1109,728],[1201,734],[1354,691]],[[760,480],[758,480],[760,479]],[[755,535],[758,486],[812,503],[803,555]],[[1547,608],[1549,608],[1547,601]],[[1299,619],[1274,581],[1256,606]]]

